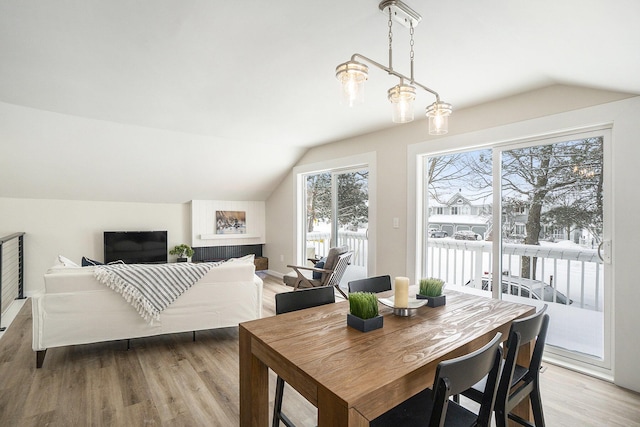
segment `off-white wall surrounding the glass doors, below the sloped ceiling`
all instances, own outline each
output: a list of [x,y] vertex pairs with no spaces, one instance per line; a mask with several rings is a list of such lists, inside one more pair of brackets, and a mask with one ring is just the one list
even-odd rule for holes
[[[603,105],[612,101],[630,98],[631,95],[602,92],[570,86],[553,86],[522,95],[498,100],[460,111],[454,111],[450,121],[452,135],[500,129],[513,123],[550,117],[555,126],[564,128],[562,113]],[[637,272],[631,268],[637,263],[635,247],[640,242],[640,229],[634,226],[631,212],[640,208],[640,182],[637,158],[640,148],[635,142],[640,135],[640,122],[634,119],[640,114],[637,99],[631,103],[613,103],[600,109],[599,123],[615,122],[613,128],[613,209],[614,230],[613,277],[614,296],[614,367],[615,382],[623,387],[640,391],[640,370],[637,369],[636,349],[640,341],[640,286],[636,285]],[[591,120],[591,119],[589,119]],[[583,123],[582,126],[599,123]],[[571,123],[573,126],[574,124]],[[526,128],[523,128],[526,130]],[[531,129],[532,133],[539,130]],[[498,132],[499,133],[499,132]],[[525,135],[522,135],[525,136]],[[335,158],[347,157],[364,152],[377,152],[377,271],[376,274],[413,276],[408,260],[413,256],[413,238],[410,213],[415,196],[408,195],[408,179],[411,168],[407,166],[408,147],[412,144],[433,143],[434,149],[450,149],[439,140],[429,137],[426,122],[421,120],[400,125],[384,131],[362,135],[310,150],[298,163],[318,163]],[[478,141],[487,142],[487,141]],[[473,141],[469,142],[473,144]],[[291,175],[285,179],[267,200],[267,245],[265,255],[269,257],[270,268],[286,273],[287,263],[295,260],[291,221],[294,219],[293,183]],[[392,226],[393,217],[401,218],[400,228]],[[283,261],[280,261],[280,255]],[[410,263],[409,263],[410,264]]]

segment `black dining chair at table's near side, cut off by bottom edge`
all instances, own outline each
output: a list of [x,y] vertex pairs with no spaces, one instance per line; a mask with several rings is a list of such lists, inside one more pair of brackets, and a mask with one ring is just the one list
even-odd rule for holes
[[[496,396],[502,349],[502,334],[482,348],[436,368],[432,389],[426,389],[371,421],[371,426],[488,427]],[[449,397],[487,378],[480,411],[475,414]]]

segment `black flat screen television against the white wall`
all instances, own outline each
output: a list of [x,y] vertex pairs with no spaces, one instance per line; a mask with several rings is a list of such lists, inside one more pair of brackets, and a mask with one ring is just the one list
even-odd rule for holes
[[104,262],[160,264],[167,262],[166,231],[105,231]]

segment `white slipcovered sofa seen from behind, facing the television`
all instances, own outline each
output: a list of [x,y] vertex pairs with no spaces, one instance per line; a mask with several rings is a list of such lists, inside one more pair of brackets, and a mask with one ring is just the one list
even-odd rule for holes
[[262,316],[262,280],[252,258],[209,270],[149,323],[122,295],[98,282],[95,267],[58,265],[32,298],[36,366],[48,348],[238,326]]

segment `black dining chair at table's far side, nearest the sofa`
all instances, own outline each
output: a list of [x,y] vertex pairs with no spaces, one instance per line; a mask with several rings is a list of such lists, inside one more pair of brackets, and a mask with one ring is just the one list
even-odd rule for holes
[[[336,302],[336,295],[333,286],[322,286],[318,288],[299,289],[292,292],[282,292],[276,294],[275,298],[276,315]],[[291,422],[289,417],[282,412],[283,396],[284,379],[278,375],[278,378],[276,379],[276,396],[273,403],[272,427],[279,426],[281,421],[287,427],[295,427],[295,424]]]

